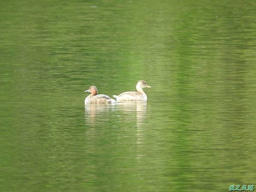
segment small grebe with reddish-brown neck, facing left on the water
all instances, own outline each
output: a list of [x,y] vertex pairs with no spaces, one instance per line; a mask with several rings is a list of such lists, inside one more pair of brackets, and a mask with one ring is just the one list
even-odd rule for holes
[[84,105],[89,103],[96,103],[96,104],[114,104],[116,101],[111,99],[109,96],[104,94],[98,95],[98,89],[95,86],[90,86],[90,88],[84,92],[91,93],[87,96],[84,100]]

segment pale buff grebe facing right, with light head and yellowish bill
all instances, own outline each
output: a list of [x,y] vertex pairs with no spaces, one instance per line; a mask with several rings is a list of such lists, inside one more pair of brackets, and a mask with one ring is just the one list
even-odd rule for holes
[[121,93],[118,96],[113,95],[113,97],[116,98],[116,101],[147,101],[148,98],[143,91],[143,88],[145,87],[150,88],[145,81],[140,80],[136,85],[137,92],[128,91]]

